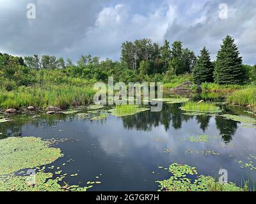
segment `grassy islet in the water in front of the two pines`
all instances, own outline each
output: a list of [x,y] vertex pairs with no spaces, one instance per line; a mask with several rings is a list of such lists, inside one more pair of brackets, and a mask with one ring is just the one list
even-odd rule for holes
[[220,113],[220,107],[215,106],[214,103],[195,103],[195,102],[188,102],[185,103],[181,110],[188,111],[188,112],[204,112],[204,113]]

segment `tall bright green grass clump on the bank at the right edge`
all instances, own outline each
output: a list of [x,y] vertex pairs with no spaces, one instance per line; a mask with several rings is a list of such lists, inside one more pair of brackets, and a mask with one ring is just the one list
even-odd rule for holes
[[256,112],[256,88],[248,87],[232,93],[228,96],[227,103],[240,106],[250,105],[253,107],[254,112]]

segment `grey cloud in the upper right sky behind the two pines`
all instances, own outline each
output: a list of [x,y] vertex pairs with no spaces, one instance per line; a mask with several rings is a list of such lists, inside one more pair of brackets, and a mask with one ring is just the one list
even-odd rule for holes
[[[227,19],[219,18],[220,3],[228,5]],[[180,40],[196,54],[206,46],[215,59],[222,39],[230,34],[235,38],[244,62],[256,64],[256,1],[209,1],[197,15],[201,15],[202,21],[196,22],[196,18],[192,18],[191,24],[184,24],[177,17],[168,27],[166,39]]]

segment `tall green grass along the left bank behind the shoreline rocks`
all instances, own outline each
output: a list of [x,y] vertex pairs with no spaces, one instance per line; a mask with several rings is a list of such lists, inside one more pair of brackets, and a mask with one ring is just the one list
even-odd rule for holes
[[94,94],[91,88],[72,85],[19,87],[15,91],[0,91],[0,108],[45,108],[52,105],[65,109],[72,105],[90,103]]

